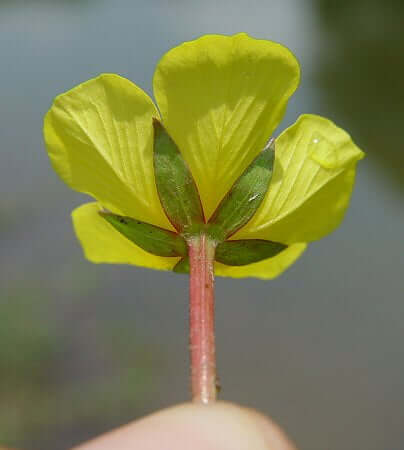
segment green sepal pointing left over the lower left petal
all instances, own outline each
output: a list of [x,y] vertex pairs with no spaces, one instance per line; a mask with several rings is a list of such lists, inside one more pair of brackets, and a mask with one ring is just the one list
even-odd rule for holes
[[187,244],[184,238],[177,233],[132,219],[131,217],[119,216],[104,211],[100,211],[99,214],[127,239],[153,255],[187,255]]

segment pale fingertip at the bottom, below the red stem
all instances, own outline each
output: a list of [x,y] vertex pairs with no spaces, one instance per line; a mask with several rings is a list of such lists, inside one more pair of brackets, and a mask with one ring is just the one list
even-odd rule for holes
[[111,431],[72,450],[296,450],[260,413],[217,402],[186,403]]

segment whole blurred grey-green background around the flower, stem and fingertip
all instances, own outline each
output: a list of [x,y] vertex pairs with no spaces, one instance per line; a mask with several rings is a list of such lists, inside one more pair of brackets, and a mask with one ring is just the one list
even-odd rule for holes
[[63,450],[188,399],[187,279],[92,265],[50,168],[52,99],[100,72],[151,93],[159,58],[206,33],[287,45],[299,114],[367,152],[343,225],[272,282],[217,280],[222,398],[301,450],[404,448],[404,2],[0,0],[0,443]]

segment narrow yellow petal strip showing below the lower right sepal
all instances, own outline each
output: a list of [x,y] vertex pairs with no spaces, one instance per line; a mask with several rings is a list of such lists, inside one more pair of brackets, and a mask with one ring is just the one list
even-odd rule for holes
[[255,277],[269,280],[279,276],[291,266],[304,252],[307,244],[293,244],[273,258],[265,259],[247,266],[225,266],[215,263],[215,274],[222,277],[244,278]]

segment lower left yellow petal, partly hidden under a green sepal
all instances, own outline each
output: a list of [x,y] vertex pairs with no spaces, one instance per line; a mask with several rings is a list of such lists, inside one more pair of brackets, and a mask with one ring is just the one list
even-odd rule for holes
[[86,203],[72,213],[76,235],[86,258],[91,262],[133,264],[150,269],[171,270],[180,260],[145,252],[103,219],[98,214],[100,208],[97,203]]

